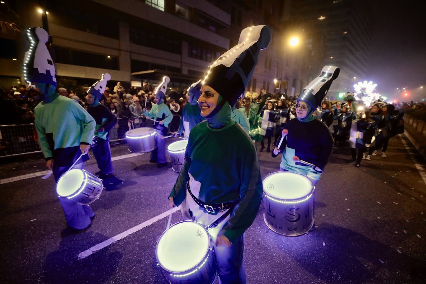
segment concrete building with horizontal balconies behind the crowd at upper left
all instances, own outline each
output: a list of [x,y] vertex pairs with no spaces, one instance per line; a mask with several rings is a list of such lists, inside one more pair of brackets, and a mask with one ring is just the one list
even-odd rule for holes
[[141,80],[155,86],[168,75],[170,87],[184,88],[230,45],[217,32],[230,26],[230,14],[206,0],[46,0],[44,7],[16,0],[11,8],[20,15],[21,32],[1,35],[16,52],[0,59],[0,77],[15,85],[23,79],[27,43],[22,31],[43,26],[39,10],[48,11],[57,76],[80,83],[91,84],[108,72],[112,83],[124,86]]

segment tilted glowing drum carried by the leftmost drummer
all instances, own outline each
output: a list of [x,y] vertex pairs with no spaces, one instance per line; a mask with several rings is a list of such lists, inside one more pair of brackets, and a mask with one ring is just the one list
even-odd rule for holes
[[56,184],[59,197],[89,205],[99,198],[104,186],[102,180],[84,169],[71,169],[65,172]]

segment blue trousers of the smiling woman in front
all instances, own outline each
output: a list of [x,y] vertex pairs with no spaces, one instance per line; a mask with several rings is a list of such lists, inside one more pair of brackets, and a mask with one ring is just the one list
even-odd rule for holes
[[243,252],[244,234],[230,247],[214,247],[219,284],[246,283]]

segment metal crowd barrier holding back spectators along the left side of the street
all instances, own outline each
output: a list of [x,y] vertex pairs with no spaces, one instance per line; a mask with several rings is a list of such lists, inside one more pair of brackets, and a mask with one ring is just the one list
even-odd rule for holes
[[[173,115],[168,126],[169,134],[178,131],[180,122],[180,115]],[[153,127],[154,121],[146,118],[130,120],[118,118],[117,125],[118,127],[109,132],[109,141],[112,145],[126,143],[125,134],[128,130]],[[41,153],[34,123],[0,125],[0,158],[32,153]]]

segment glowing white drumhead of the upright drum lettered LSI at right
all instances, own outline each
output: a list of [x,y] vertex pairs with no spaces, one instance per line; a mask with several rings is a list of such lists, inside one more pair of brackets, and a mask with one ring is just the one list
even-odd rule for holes
[[263,179],[263,192],[278,199],[299,199],[313,188],[309,178],[294,172],[274,172]]

